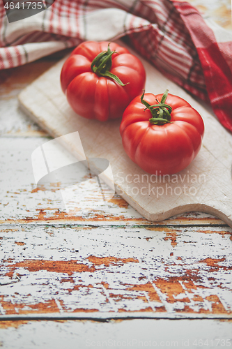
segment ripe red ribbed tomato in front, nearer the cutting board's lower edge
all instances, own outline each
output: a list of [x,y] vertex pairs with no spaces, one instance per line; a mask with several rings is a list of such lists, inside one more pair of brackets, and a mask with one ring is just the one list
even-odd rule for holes
[[174,174],[198,154],[204,124],[189,103],[166,91],[134,98],[123,113],[120,133],[125,152],[140,168]]

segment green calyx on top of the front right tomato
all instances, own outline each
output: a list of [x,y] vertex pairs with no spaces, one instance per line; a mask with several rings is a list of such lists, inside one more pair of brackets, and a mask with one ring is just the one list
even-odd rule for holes
[[141,96],[141,103],[145,105],[145,110],[149,109],[152,117],[149,119],[150,124],[154,125],[164,125],[164,124],[171,124],[171,106],[168,104],[165,104],[167,95],[169,94],[169,90],[167,89],[161,99],[161,102],[157,101],[157,104],[150,105],[148,102],[144,101],[144,93]]

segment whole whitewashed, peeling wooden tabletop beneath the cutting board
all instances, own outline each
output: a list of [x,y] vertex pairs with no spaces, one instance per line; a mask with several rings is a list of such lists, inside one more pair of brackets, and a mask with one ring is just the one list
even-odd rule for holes
[[228,225],[199,212],[150,223],[119,195],[99,203],[94,181],[68,215],[61,184],[36,188],[31,153],[50,138],[17,95],[56,61],[1,74],[1,348],[232,346]]

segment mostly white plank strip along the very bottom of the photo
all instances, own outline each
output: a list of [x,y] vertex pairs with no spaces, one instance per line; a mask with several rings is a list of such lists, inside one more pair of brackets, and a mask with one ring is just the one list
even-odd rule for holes
[[230,347],[232,323],[219,320],[3,322],[3,349],[222,348]]

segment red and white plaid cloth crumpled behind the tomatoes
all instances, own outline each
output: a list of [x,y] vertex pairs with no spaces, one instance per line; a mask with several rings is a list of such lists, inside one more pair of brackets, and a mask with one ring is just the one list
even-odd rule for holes
[[0,0],[0,69],[82,40],[128,42],[164,75],[203,101],[232,131],[232,34],[178,0],[56,0],[9,23]]

